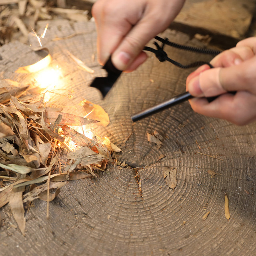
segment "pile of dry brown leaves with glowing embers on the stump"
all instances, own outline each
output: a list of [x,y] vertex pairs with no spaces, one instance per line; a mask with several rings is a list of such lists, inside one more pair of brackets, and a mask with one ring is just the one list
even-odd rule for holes
[[44,94],[28,97],[28,86],[0,82],[0,207],[9,203],[24,234],[24,204],[28,208],[36,198],[49,202],[66,182],[96,176],[94,170],[104,171],[112,162],[112,148],[120,149],[108,138],[88,138],[74,130],[108,124],[100,106],[84,101],[91,119],[75,116],[46,107]]

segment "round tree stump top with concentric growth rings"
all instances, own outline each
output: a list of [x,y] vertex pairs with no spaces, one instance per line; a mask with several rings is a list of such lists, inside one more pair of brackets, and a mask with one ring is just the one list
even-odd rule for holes
[[[180,32],[167,30],[162,36],[204,47]],[[52,54],[52,66],[58,65],[62,71],[62,89],[74,91],[72,99],[53,98],[73,114],[84,114],[79,106],[83,99],[100,104],[108,112],[110,124],[95,132],[122,149],[118,160],[126,166],[110,163],[106,172],[98,172],[98,178],[69,182],[50,202],[48,220],[47,203],[35,200],[26,214],[25,236],[15,229],[9,206],[2,208],[2,256],[251,255],[255,251],[255,124],[240,127],[201,116],[188,102],[133,124],[131,114],[184,92],[186,76],[192,70],[160,63],[149,54],[138,70],[122,74],[101,100],[99,92],[88,87],[94,77],[104,74],[94,58],[93,22],[50,24],[44,46]],[[165,49],[183,64],[212,58]],[[94,74],[78,68],[66,50],[94,69]],[[14,73],[18,66],[33,62],[29,46],[6,44],[0,48],[0,56],[4,78],[34,81],[35,74]],[[154,131],[163,136],[160,148],[147,140],[147,133]],[[160,155],[166,157],[158,160]],[[164,180],[166,167],[177,170],[174,190]],[[218,175],[212,178],[208,170]],[[229,221],[224,193],[229,198]],[[203,221],[206,211],[210,215]]]

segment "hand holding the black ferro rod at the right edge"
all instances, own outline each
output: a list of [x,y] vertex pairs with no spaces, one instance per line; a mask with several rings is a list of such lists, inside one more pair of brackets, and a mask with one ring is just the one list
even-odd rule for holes
[[[244,39],[192,72],[186,82],[195,112],[244,125],[256,120],[256,37]],[[228,92],[237,91],[235,95]],[[205,98],[220,95],[211,103]]]

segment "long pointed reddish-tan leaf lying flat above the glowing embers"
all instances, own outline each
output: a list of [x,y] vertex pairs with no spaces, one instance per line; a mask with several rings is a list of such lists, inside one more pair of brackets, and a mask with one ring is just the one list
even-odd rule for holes
[[81,126],[86,124],[97,123],[97,120],[91,120],[88,118],[84,118],[81,116],[75,116],[73,114],[68,113],[60,113],[60,112],[45,112],[45,122],[47,124],[53,124],[58,116],[61,115],[62,118],[58,125],[71,125],[71,126]]

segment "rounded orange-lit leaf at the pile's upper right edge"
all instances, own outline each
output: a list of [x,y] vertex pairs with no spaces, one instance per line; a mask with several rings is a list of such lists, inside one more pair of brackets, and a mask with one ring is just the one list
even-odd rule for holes
[[81,103],[86,113],[90,113],[88,116],[86,115],[87,118],[100,121],[97,125],[104,127],[109,124],[108,113],[101,106],[93,104],[88,100],[84,100]]

